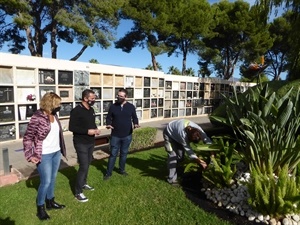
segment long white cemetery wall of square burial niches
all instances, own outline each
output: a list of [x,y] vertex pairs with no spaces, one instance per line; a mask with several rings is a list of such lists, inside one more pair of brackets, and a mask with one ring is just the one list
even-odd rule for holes
[[0,53],[0,62],[0,142],[23,138],[47,92],[62,98],[59,119],[68,132],[70,111],[86,88],[96,93],[96,124],[104,128],[109,106],[120,88],[128,90],[127,99],[143,122],[207,115],[218,106],[222,94],[233,94],[233,86],[244,92],[255,85],[8,53]]

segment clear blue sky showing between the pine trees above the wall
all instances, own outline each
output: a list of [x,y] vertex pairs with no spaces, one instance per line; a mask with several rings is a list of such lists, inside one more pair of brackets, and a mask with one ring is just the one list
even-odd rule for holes
[[[120,26],[117,29],[117,39],[124,36],[131,28],[131,22],[122,21]],[[75,56],[81,49],[81,46],[77,43],[69,44],[66,42],[58,42],[57,58],[69,60]],[[7,51],[3,48],[1,51]],[[22,55],[30,55],[29,50],[26,48],[21,52]],[[47,43],[44,45],[43,57],[51,58],[51,47]],[[102,49],[99,46],[95,45],[94,47],[88,47],[84,53],[80,56],[77,61],[79,62],[89,62],[90,59],[97,59],[100,64],[107,65],[117,65],[123,67],[132,67],[132,68],[145,68],[149,64],[152,65],[151,55],[147,48],[136,47],[133,48],[130,53],[123,52],[121,49],[114,48],[114,44],[108,49]],[[175,66],[179,70],[182,69],[182,55],[178,57],[171,56],[168,57],[167,54],[163,54],[156,57],[157,62],[162,66],[162,70],[167,73],[170,66]],[[195,55],[189,54],[187,56],[187,68],[192,67],[197,73],[199,66],[197,64],[198,57]]]

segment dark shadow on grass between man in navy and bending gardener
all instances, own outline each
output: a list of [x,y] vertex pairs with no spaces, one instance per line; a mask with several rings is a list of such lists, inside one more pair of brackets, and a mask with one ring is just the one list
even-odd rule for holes
[[154,177],[160,180],[166,180],[167,161],[166,157],[160,157],[150,154],[148,159],[128,157],[126,163],[140,170],[142,176]]

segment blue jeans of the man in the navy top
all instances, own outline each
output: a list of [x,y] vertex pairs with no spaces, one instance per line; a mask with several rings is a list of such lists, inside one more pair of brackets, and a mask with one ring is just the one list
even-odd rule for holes
[[132,140],[132,135],[128,135],[127,137],[123,137],[123,138],[111,136],[110,156],[108,159],[106,175],[111,176],[119,151],[120,151],[120,158],[119,158],[120,173],[125,172],[125,164],[126,164],[128,149],[129,149],[131,140]]

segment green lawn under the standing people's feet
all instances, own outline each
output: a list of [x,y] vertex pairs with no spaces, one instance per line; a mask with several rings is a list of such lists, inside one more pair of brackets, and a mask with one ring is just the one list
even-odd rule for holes
[[72,193],[75,167],[60,170],[56,181],[56,200],[63,210],[48,211],[51,219],[39,221],[35,198],[38,177],[0,188],[0,224],[101,224],[101,225],[228,225],[186,197],[180,188],[167,184],[166,153],[163,148],[128,155],[128,177],[114,172],[103,181],[106,160],[95,160],[88,183],[95,191],[85,191],[89,201],[77,202]]

